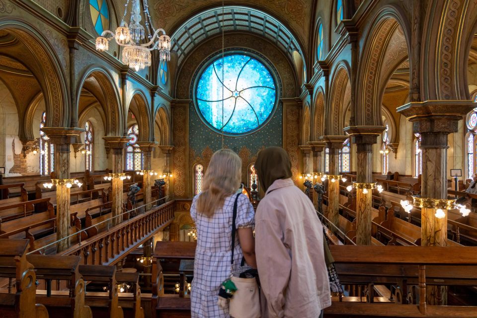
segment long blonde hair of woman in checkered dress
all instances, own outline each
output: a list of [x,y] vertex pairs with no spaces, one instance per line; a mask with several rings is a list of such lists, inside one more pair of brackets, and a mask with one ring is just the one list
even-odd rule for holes
[[240,185],[242,161],[230,149],[221,149],[210,159],[205,171],[202,191],[197,199],[197,212],[212,217],[222,207],[225,198]]

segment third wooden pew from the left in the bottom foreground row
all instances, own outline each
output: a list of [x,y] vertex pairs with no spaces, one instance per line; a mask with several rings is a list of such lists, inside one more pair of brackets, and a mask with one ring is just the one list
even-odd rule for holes
[[94,318],[123,318],[119,306],[118,285],[116,284],[116,266],[79,265],[79,273],[88,283],[107,286],[107,292],[88,292],[86,285],[85,305],[91,308]]

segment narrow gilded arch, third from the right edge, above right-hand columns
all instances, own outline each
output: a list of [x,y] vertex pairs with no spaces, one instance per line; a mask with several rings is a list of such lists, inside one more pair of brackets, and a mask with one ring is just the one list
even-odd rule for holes
[[343,112],[346,100],[351,98],[351,86],[349,81],[349,66],[346,62],[340,62],[334,72],[328,107],[326,111],[325,133],[330,136],[343,134]]

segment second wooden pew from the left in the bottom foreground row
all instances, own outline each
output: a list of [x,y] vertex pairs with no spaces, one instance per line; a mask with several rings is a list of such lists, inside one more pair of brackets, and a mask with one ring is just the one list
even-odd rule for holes
[[[26,259],[35,267],[40,286],[45,287],[37,288],[36,301],[46,307],[50,317],[92,318],[91,309],[84,305],[79,256],[27,255]],[[52,281],[60,286],[56,291],[52,291]],[[63,284],[60,285],[60,281]]]

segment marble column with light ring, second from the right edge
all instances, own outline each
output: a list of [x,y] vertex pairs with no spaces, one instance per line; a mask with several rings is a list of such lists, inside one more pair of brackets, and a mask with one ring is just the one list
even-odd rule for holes
[[353,126],[345,129],[356,145],[356,244],[371,245],[373,189],[373,145],[383,126]]

